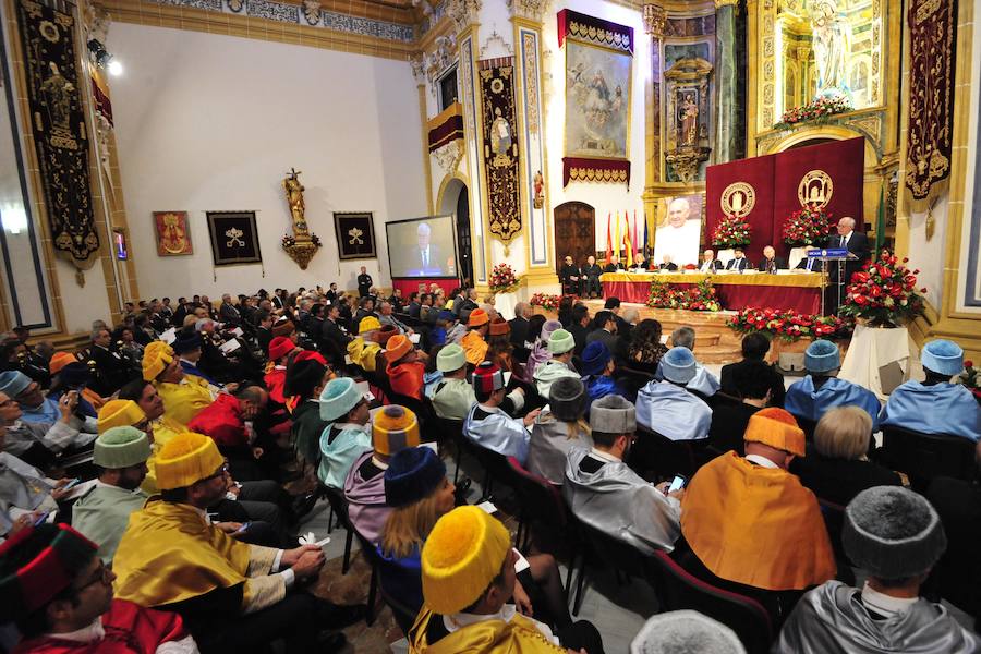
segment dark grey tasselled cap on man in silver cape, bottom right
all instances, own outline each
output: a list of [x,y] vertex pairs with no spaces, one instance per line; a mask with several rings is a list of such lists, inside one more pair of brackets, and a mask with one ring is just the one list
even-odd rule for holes
[[901,486],[875,486],[845,508],[841,544],[852,564],[891,580],[930,570],[947,548],[947,537],[922,495]]

